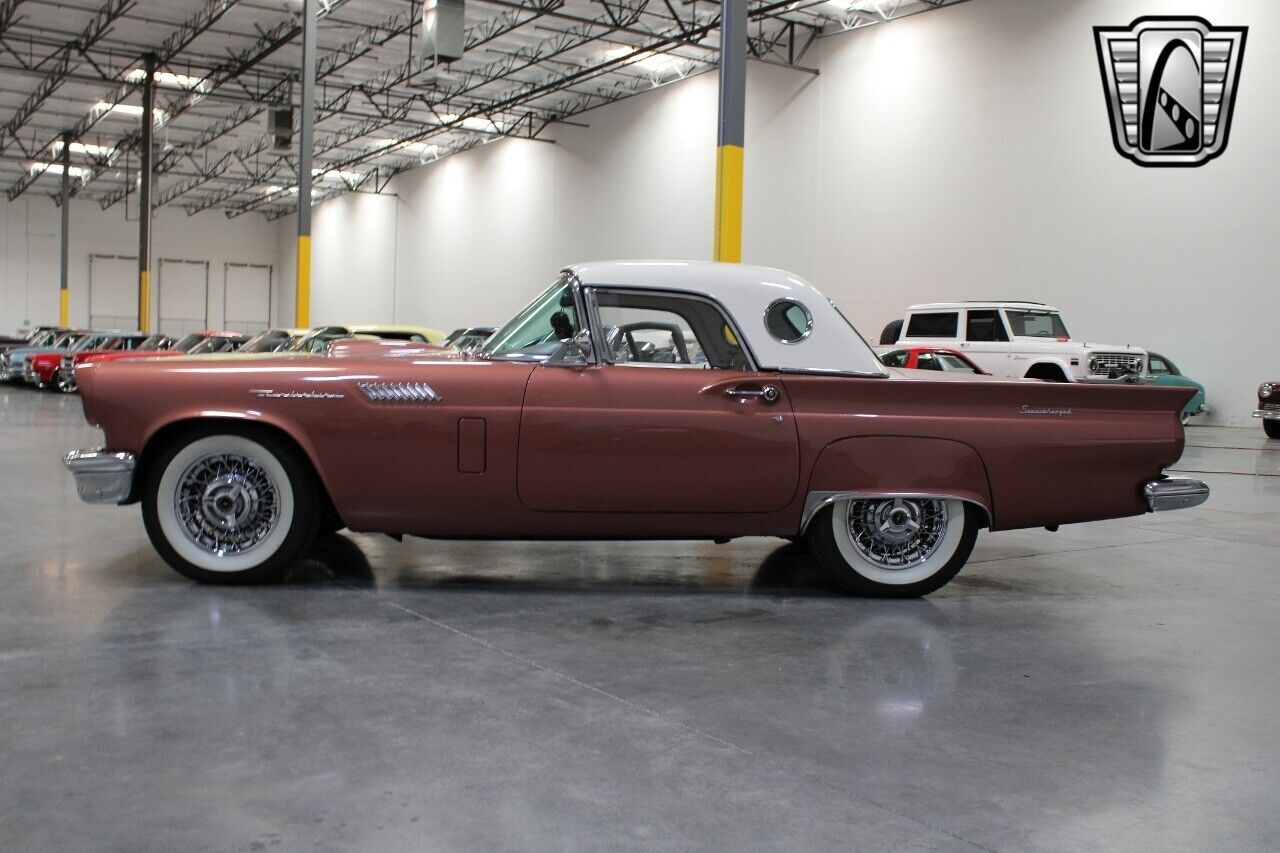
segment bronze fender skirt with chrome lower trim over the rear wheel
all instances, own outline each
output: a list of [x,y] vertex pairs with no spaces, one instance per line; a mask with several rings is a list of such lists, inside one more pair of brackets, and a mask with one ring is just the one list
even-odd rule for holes
[[865,435],[832,442],[814,462],[800,532],[822,507],[844,497],[951,497],[972,503],[995,528],[991,482],[969,444],[945,438]]

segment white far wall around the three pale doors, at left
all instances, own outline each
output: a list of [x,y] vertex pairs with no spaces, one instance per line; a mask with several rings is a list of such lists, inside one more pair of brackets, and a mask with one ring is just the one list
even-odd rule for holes
[[[0,204],[0,330],[58,321],[60,210],[46,196],[31,192]],[[88,321],[91,255],[137,257],[138,225],[125,219],[123,207],[101,210],[96,202],[72,201],[69,251],[70,321]],[[160,259],[209,263],[207,314],[210,325],[223,321],[224,265],[275,264],[274,227],[261,216],[227,219],[221,213],[187,216],[180,209],[163,207],[152,227],[152,278]],[[274,296],[282,292],[275,270]]]

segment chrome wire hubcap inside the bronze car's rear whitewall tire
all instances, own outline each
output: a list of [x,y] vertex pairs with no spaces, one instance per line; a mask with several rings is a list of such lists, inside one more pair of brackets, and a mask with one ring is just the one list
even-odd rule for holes
[[947,532],[945,501],[886,498],[849,502],[849,538],[881,569],[911,569],[932,557]]

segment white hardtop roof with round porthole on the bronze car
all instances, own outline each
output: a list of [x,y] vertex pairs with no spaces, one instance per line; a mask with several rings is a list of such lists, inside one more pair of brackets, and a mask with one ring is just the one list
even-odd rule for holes
[[[810,370],[888,375],[872,348],[836,306],[799,275],[772,266],[716,261],[623,260],[566,268],[588,287],[613,286],[686,291],[723,305],[764,370]],[[813,318],[808,336],[783,343],[764,325],[765,310],[787,298]]]

